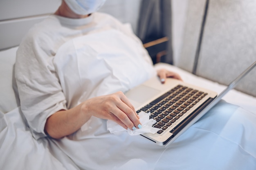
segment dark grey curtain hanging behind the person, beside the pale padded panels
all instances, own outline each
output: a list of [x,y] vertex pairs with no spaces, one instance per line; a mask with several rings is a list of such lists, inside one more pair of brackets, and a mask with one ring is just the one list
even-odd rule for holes
[[167,55],[161,62],[173,64],[171,0],[142,0],[137,36],[143,43],[168,37]]

